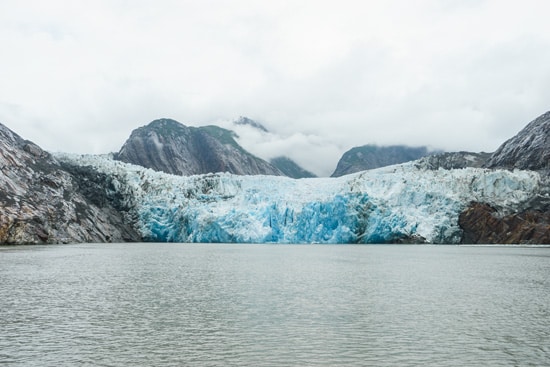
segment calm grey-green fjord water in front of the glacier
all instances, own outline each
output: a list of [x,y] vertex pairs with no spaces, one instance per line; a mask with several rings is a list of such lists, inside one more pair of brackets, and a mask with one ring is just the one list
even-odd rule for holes
[[550,249],[0,248],[6,366],[550,365]]

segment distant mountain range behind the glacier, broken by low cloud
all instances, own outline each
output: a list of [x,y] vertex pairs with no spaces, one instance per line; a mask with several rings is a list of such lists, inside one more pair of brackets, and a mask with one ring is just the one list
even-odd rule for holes
[[[234,124],[269,133],[262,124],[247,117],[240,117]],[[256,157],[239,145],[237,139],[235,132],[215,125],[189,127],[175,120],[159,119],[134,130],[115,159],[181,176],[229,172],[315,177],[288,157],[269,161]],[[355,147],[342,156],[332,177],[409,162],[435,153],[427,147],[405,145]]]

